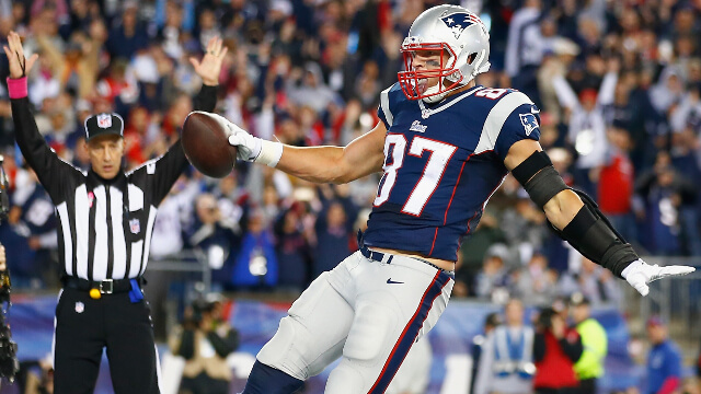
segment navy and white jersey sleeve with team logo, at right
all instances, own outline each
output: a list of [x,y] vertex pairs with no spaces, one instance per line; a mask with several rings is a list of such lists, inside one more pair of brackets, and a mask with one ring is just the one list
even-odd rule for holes
[[522,139],[540,140],[540,109],[520,92],[508,94],[502,102],[506,104],[505,119],[494,143],[494,152],[504,160],[514,143]]

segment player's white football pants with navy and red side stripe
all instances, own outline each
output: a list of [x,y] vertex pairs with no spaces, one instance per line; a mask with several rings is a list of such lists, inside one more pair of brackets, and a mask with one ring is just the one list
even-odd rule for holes
[[358,251],[309,286],[257,359],[307,380],[343,357],[326,394],[384,393],[446,309],[452,285],[418,259],[384,254],[376,262]]

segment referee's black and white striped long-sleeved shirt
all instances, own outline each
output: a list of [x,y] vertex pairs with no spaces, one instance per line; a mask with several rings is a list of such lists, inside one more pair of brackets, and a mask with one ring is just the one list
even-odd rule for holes
[[[216,86],[203,85],[194,107],[210,112],[215,104]],[[12,115],[22,154],[56,206],[65,274],[88,280],[143,275],[158,205],[187,166],[180,140],[162,157],[103,179],[56,155],[26,97],[12,100]]]

